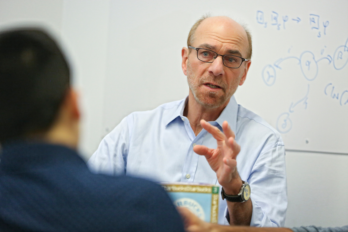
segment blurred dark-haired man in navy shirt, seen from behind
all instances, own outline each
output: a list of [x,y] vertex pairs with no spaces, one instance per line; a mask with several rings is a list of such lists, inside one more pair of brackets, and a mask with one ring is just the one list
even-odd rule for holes
[[161,186],[92,174],[61,50],[36,29],[0,33],[0,231],[183,231]]

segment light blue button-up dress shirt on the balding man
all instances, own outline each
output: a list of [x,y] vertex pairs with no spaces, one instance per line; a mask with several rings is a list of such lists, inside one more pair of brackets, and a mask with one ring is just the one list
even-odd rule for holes
[[[196,144],[215,149],[213,136],[203,129],[197,136],[183,116],[187,99],[134,112],[104,137],[88,161],[91,170],[126,174],[156,182],[219,184]],[[284,226],[287,207],[284,143],[278,131],[237,104],[234,96],[212,125],[222,130],[227,121],[241,150],[240,178],[251,187],[251,226]],[[228,224],[226,200],[219,200],[219,224]]]

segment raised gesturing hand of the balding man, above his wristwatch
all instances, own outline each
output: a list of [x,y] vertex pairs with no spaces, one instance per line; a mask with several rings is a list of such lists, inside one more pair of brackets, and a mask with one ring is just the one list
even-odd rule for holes
[[[210,167],[215,171],[217,180],[227,192],[228,189],[233,189],[231,181],[233,182],[235,178],[240,179],[236,161],[240,146],[235,141],[235,133],[231,130],[227,121],[222,123],[223,133],[219,128],[212,126],[203,119],[200,121],[200,125],[213,135],[217,147],[211,149],[204,145],[196,145],[193,147],[193,151],[205,156]],[[238,190],[239,188],[240,186]]]

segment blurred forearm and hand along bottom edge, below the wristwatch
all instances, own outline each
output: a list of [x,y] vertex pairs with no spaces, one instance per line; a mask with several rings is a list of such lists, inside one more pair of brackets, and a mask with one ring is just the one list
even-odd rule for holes
[[348,225],[342,227],[301,226],[285,227],[251,227],[251,226],[225,226],[207,223],[199,219],[189,209],[178,208],[187,232],[348,232]]

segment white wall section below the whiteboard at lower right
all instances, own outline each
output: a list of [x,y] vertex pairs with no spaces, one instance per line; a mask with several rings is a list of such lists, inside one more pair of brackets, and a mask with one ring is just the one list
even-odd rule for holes
[[285,226],[348,224],[348,155],[286,151]]

